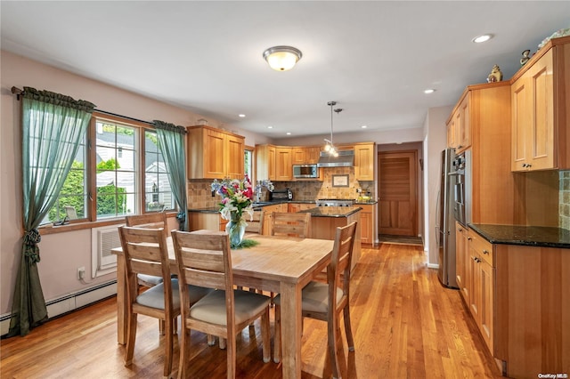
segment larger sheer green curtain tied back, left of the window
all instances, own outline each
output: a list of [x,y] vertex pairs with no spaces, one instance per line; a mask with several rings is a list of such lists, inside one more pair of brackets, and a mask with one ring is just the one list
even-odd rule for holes
[[55,203],[65,181],[94,104],[69,96],[24,87],[22,93],[23,222],[20,270],[12,302],[8,335],[27,335],[47,319],[39,281],[40,222]]

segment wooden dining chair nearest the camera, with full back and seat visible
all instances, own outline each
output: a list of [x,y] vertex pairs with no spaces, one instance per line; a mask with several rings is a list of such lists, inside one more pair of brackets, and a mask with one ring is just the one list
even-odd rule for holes
[[[191,330],[227,341],[227,377],[236,375],[236,335],[261,319],[263,359],[269,362],[269,297],[233,289],[232,254],[227,233],[214,230],[172,232],[181,287],[182,341],[178,378],[187,376]],[[216,288],[198,302],[187,285]]]

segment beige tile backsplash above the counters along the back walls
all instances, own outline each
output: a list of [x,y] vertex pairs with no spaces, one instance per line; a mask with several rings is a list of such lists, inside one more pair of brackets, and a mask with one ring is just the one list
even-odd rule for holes
[[[323,181],[275,181],[276,189],[289,188],[293,191],[294,200],[316,200],[317,198],[358,198],[356,189],[370,191],[373,194],[374,181],[356,181],[354,179],[354,167],[330,167],[322,169]],[[332,181],[335,175],[348,175],[346,187],[333,187]],[[337,177],[340,184],[344,178]],[[209,208],[217,206],[220,198],[212,198],[210,190],[211,180],[191,180],[188,182],[188,207],[190,209]]]

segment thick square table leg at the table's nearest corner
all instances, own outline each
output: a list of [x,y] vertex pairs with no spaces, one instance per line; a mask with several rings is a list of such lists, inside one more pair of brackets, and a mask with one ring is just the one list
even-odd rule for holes
[[283,379],[301,377],[301,288],[281,283],[281,361]]

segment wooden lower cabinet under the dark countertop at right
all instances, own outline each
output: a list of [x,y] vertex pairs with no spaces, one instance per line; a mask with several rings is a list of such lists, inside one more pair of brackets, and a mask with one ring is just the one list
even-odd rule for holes
[[456,225],[461,297],[502,375],[570,373],[570,249],[491,244],[469,229],[465,254],[465,231]]

